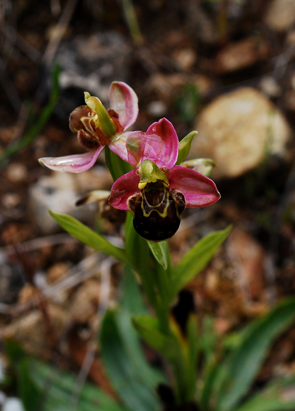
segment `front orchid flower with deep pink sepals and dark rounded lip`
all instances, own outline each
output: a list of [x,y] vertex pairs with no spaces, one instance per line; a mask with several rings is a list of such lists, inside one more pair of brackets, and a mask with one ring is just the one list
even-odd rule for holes
[[219,200],[210,178],[175,165],[179,140],[167,119],[153,123],[146,133],[129,133],[126,147],[134,170],[114,182],[109,203],[133,212],[134,229],[147,240],[163,241],[175,234],[185,207]]

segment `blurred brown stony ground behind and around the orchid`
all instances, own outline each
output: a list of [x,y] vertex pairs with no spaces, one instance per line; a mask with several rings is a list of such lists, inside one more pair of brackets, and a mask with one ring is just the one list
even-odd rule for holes
[[[81,365],[83,350],[71,342],[85,349],[96,327],[107,261],[62,232],[47,210],[118,241],[122,216],[114,223],[106,205],[74,206],[90,190],[110,189],[103,156],[81,175],[51,173],[37,158],[82,151],[69,113],[83,104],[84,90],[107,104],[113,80],[139,96],[136,129],[162,117],[180,138],[197,129],[190,157],[217,163],[212,178],[222,199],[186,210],[170,240],[176,262],[195,240],[233,223],[224,247],[188,287],[198,312],[213,314],[223,335],[295,292],[295,3],[153,0],[134,7],[139,29],[129,29],[115,0],[1,5],[0,337],[43,359],[58,346]],[[56,61],[60,97],[51,113]],[[110,303],[120,281],[119,268],[111,272]],[[79,327],[84,332],[69,332]],[[277,342],[259,379],[294,370],[294,331]],[[91,378],[109,389],[97,372]]]

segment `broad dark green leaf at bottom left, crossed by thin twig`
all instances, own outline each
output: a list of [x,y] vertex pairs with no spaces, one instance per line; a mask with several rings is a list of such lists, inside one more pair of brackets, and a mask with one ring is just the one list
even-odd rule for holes
[[[25,358],[17,367],[19,395],[26,411],[72,411],[76,377],[38,360]],[[79,411],[128,411],[100,388],[85,383]]]

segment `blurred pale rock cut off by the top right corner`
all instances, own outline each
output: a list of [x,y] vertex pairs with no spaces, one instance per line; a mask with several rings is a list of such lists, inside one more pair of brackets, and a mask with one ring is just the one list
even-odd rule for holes
[[273,30],[286,31],[294,22],[294,0],[272,0],[264,17],[264,23]]

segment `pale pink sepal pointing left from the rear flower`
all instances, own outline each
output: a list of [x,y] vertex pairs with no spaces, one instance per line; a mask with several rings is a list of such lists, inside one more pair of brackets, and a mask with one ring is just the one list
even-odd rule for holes
[[101,145],[97,150],[87,153],[63,157],[43,157],[38,161],[41,165],[53,171],[59,171],[61,173],[82,173],[94,165],[103,148],[104,146]]

